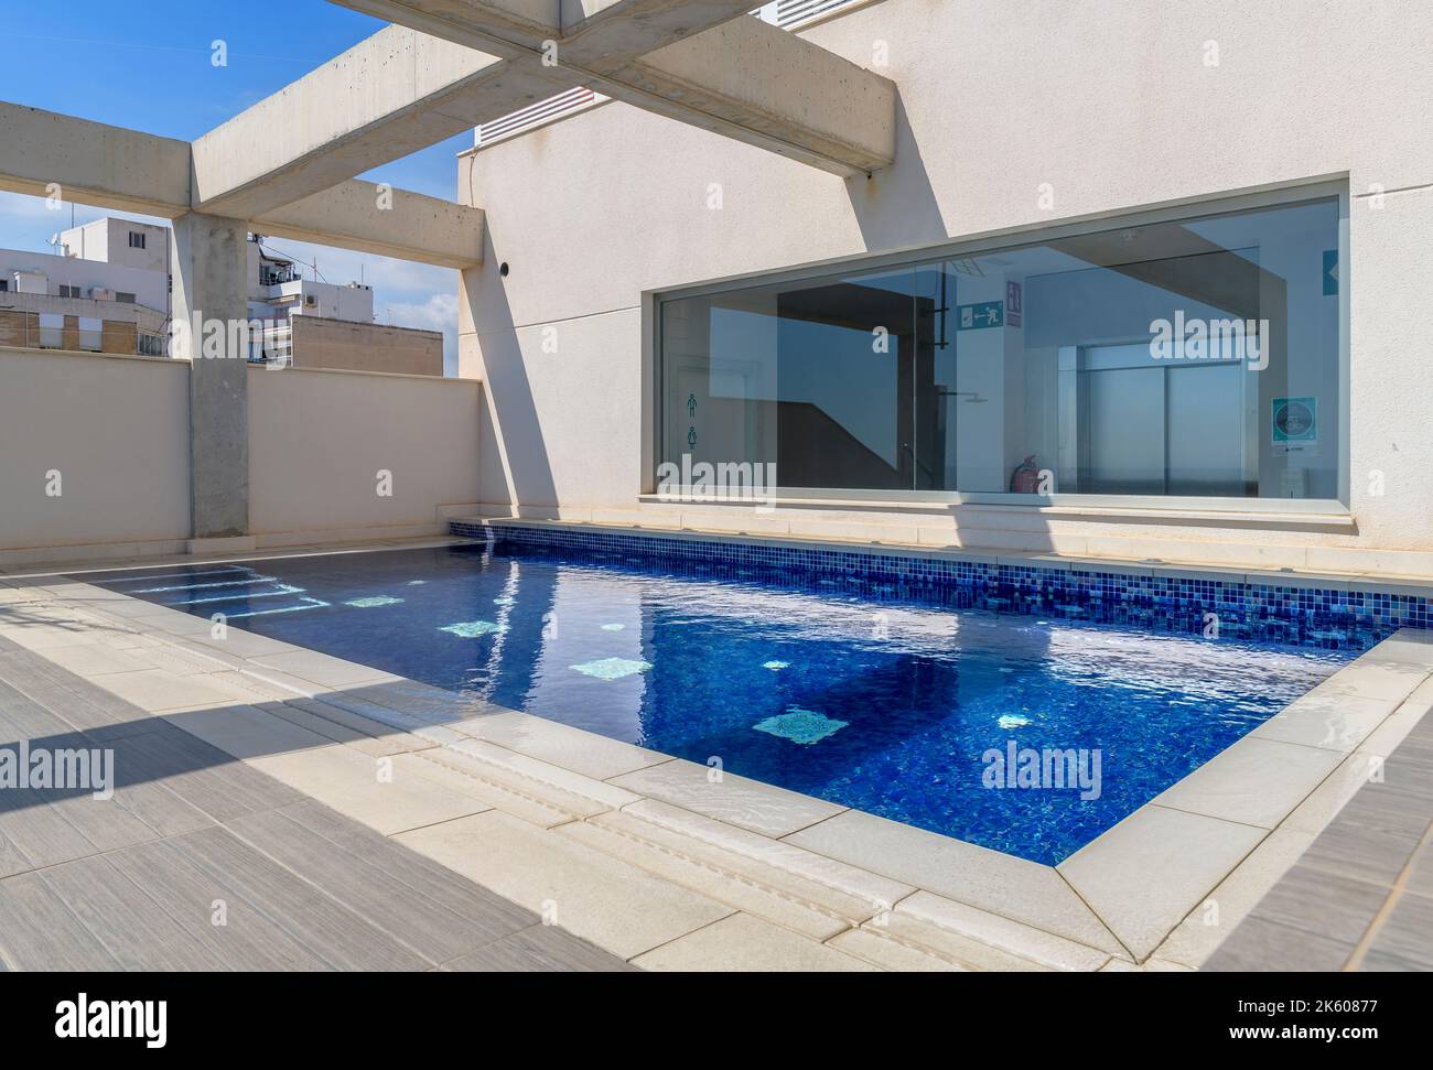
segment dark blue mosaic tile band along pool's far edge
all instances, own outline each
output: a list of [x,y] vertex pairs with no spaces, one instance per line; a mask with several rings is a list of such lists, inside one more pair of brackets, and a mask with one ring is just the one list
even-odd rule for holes
[[1400,627],[1430,626],[1429,597],[1416,586],[1290,576],[1274,580],[1178,567],[1088,561],[903,554],[858,547],[749,543],[552,527],[453,521],[451,533],[481,539],[494,553],[580,556],[608,564],[661,566],[712,579],[759,579],[798,589],[834,586],[871,602],[920,602],[957,609],[1049,616],[1224,637],[1366,650]]

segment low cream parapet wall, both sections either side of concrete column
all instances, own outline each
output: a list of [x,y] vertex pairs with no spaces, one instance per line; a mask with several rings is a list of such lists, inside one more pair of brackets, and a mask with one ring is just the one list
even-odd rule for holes
[[[255,546],[446,534],[474,511],[481,384],[248,377]],[[0,570],[185,553],[189,537],[188,361],[0,350]]]

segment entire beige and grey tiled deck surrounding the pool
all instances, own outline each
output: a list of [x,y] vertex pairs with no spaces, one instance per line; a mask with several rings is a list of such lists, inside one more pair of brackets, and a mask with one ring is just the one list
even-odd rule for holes
[[1433,633],[1400,632],[1046,867],[14,572],[0,746],[85,733],[125,786],[0,808],[0,964],[1291,968],[1315,927],[1347,954],[1310,968],[1410,968],[1430,676]]

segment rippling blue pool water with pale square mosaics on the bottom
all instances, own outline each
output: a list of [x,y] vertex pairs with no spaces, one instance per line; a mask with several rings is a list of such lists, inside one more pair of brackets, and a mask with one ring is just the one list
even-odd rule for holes
[[1050,865],[1351,657],[481,546],[100,582]]

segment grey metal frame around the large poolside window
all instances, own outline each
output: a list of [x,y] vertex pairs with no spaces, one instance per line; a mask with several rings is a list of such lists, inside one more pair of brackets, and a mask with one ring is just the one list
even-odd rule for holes
[[[781,285],[784,282],[815,282],[823,278],[883,268],[911,266],[930,259],[959,259],[983,254],[1013,251],[1062,238],[1073,238],[1102,231],[1149,226],[1192,221],[1205,216],[1293,206],[1308,201],[1337,199],[1338,205],[1338,496],[1336,498],[1278,498],[1278,497],[1194,497],[1162,494],[1017,494],[1013,491],[952,491],[952,490],[861,490],[858,487],[787,487],[774,488],[774,497],[815,503],[871,501],[900,504],[999,506],[1025,510],[1058,510],[1079,514],[1083,510],[1129,513],[1278,513],[1313,517],[1347,517],[1350,510],[1350,453],[1348,453],[1348,354],[1350,354],[1350,271],[1348,271],[1348,213],[1350,191],[1347,176],[1317,178],[1284,183],[1255,192],[1218,193],[1171,201],[1152,208],[1109,211],[1059,222],[1037,222],[972,235],[957,241],[940,241],[903,246],[883,254],[856,254],[824,261],[781,268],[727,275],[718,279],[649,289],[642,294],[643,339],[643,448],[639,497],[653,497],[656,466],[662,460],[662,305],[682,298],[708,297],[747,286]],[[1095,517],[1098,519],[1098,517]]]

